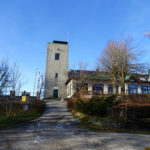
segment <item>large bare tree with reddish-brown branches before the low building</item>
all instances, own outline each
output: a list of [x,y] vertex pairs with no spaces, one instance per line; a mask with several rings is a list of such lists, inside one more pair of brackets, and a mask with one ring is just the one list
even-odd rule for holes
[[125,92],[125,78],[127,75],[143,71],[144,67],[138,61],[137,46],[132,46],[132,39],[121,41],[111,40],[98,59],[101,71],[111,76],[114,93],[116,93],[117,79],[120,79],[121,92]]

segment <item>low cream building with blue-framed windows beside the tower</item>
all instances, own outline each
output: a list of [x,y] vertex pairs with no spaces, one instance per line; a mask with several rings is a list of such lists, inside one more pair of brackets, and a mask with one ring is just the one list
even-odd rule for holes
[[[80,79],[80,70],[70,72],[67,85],[67,97],[72,97],[78,91],[78,84],[82,82]],[[85,90],[89,95],[93,94],[112,94],[113,86],[111,77],[107,74],[100,73],[96,75],[95,71],[87,71],[84,78]],[[120,81],[116,82],[116,93],[121,94]],[[147,75],[130,75],[126,77],[125,94],[129,93],[150,93],[150,70]]]

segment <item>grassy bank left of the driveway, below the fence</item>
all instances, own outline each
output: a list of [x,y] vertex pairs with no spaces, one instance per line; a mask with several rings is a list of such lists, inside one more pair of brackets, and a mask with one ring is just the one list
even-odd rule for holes
[[45,102],[37,101],[34,104],[28,104],[28,111],[24,109],[25,104],[13,104],[13,109],[9,117],[0,112],[0,128],[16,125],[25,121],[33,120],[40,117],[45,110]]

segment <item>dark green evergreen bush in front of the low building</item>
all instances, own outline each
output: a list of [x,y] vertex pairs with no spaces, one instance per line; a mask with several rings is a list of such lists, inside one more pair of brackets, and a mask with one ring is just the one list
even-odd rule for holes
[[115,97],[116,96],[114,95],[107,98],[93,97],[89,101],[83,101],[79,99],[77,102],[75,102],[74,109],[76,112],[81,112],[89,115],[105,116],[106,108],[112,107]]

